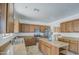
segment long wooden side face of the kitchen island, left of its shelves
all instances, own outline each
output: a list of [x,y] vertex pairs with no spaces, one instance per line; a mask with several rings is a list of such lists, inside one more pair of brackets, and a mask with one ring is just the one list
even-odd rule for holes
[[44,55],[59,55],[59,49],[39,40],[39,49]]

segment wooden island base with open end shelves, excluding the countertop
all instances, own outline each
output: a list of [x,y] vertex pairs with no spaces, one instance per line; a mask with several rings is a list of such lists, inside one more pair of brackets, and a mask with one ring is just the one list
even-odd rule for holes
[[60,55],[60,54],[66,54],[68,51],[68,46],[57,47],[56,44],[53,45],[53,42],[50,43],[49,41],[45,40],[39,40],[38,47],[44,55]]

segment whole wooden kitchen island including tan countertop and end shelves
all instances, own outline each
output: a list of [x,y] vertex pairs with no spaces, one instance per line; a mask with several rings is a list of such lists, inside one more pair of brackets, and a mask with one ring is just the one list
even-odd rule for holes
[[61,41],[48,41],[47,38],[39,39],[39,49],[45,55],[66,54],[68,51],[68,43]]

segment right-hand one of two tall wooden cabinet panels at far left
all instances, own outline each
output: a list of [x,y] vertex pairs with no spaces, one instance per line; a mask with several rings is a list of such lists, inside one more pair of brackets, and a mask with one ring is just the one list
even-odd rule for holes
[[7,33],[14,32],[13,4],[7,4]]

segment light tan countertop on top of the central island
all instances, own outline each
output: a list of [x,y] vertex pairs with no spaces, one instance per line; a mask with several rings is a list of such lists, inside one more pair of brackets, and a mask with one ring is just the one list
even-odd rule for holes
[[68,43],[64,43],[64,42],[61,42],[61,41],[48,41],[46,38],[40,38],[39,40],[42,40],[44,42],[47,42],[57,48],[61,48],[61,47],[65,47],[65,46],[68,46],[69,44]]

